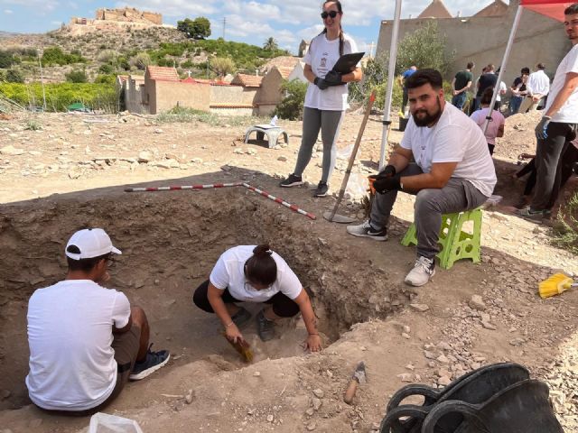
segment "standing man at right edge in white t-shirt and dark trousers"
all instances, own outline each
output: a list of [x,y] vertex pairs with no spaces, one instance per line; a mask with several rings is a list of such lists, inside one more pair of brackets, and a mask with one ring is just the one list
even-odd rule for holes
[[578,3],[564,10],[564,30],[573,47],[556,69],[544,116],[536,125],[534,197],[530,206],[518,211],[535,220],[551,217],[562,180],[561,156],[578,130]]

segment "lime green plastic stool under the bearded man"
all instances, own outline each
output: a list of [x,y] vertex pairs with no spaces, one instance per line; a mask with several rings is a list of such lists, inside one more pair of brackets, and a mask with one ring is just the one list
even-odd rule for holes
[[[473,233],[471,234],[462,231],[463,224],[467,221],[473,222]],[[443,269],[450,269],[453,263],[460,259],[471,259],[473,263],[480,262],[480,241],[481,207],[455,214],[444,214],[440,240],[438,241],[442,245],[442,251],[437,253],[440,266]],[[414,223],[407,229],[401,244],[404,246],[417,244]]]

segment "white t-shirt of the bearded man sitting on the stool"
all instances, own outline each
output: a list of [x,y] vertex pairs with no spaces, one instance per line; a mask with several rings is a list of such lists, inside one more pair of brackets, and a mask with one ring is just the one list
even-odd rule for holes
[[496,186],[496,170],[480,127],[461,110],[446,103],[433,127],[418,127],[410,116],[401,147],[411,150],[424,173],[433,162],[457,162],[452,178],[468,180],[486,196]]

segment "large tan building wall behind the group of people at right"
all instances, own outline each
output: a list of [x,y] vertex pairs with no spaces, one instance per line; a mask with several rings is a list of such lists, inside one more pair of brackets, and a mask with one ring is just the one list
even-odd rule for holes
[[[440,33],[446,37],[446,50],[448,53],[455,52],[446,78],[451,79],[469,61],[476,64],[473,73],[478,76],[484,65],[493,63],[499,66],[506,51],[517,5],[517,0],[510,0],[509,5],[495,0],[473,16],[452,17],[442,0],[433,0],[417,18],[401,20],[399,40],[415,32],[428,20],[435,19]],[[389,51],[392,28],[393,21],[381,22],[378,55]],[[558,63],[570,48],[571,44],[560,23],[525,9],[508,59],[508,77],[505,81],[508,83],[517,77],[521,68],[532,68],[537,62],[545,63],[546,73],[554,76]]]

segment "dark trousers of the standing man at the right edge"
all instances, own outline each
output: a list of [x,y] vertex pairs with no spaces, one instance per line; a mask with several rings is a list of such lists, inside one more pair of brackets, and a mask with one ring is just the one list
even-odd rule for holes
[[550,210],[554,207],[562,186],[562,163],[560,155],[572,144],[577,124],[550,122],[545,140],[536,146],[536,190],[530,207],[532,210]]

